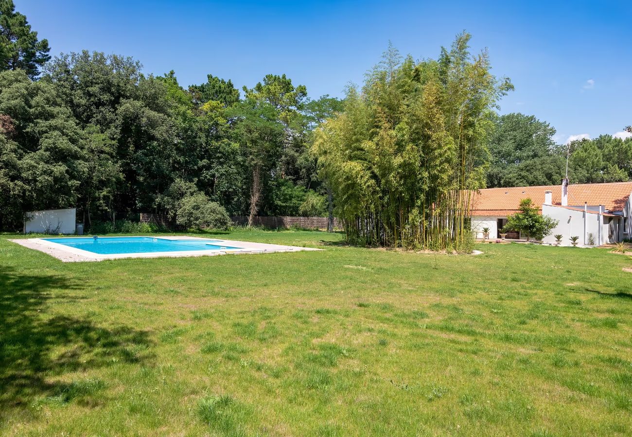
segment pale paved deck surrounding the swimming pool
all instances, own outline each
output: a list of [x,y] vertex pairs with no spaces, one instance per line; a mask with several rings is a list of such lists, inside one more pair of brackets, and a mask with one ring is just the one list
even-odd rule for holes
[[[181,258],[183,256],[216,256],[228,254],[255,254],[255,253],[278,253],[278,252],[300,252],[315,251],[322,249],[301,248],[298,246],[281,246],[280,244],[267,244],[252,241],[236,241],[224,240],[219,238],[202,238],[189,236],[143,236],[151,238],[160,238],[166,240],[212,240],[217,246],[238,246],[239,249],[212,249],[212,250],[195,250],[195,251],[178,251],[178,252],[147,252],[147,253],[116,253],[116,254],[99,254],[85,251],[83,249],[71,248],[52,241],[46,241],[41,238],[23,238],[11,239],[20,246],[25,248],[39,250],[64,263],[76,263],[81,261],[104,261],[104,260],[120,260],[121,258]],[[72,237],[69,237],[72,238]],[[85,236],[84,236],[85,238]],[[125,238],[125,237],[121,237]]]

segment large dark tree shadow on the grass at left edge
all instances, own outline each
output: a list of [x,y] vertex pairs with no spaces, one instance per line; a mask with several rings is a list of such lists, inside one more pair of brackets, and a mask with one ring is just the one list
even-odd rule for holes
[[59,393],[68,372],[148,359],[147,332],[48,316],[49,301],[80,301],[82,284],[59,275],[0,270],[0,423],[34,400]]

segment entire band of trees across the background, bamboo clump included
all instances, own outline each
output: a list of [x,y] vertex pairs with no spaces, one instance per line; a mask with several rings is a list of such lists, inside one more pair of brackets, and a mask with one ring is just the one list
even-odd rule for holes
[[224,220],[218,205],[251,219],[335,205],[355,241],[447,247],[467,226],[458,189],[557,184],[567,153],[573,182],[632,178],[631,138],[566,147],[544,121],[497,115],[511,84],[468,40],[436,60],[391,47],[363,88],[312,100],[285,75],[183,87],[131,57],[51,59],[0,1],[0,229],[50,208],[77,207],[88,227],[138,212],[187,226],[200,211]]

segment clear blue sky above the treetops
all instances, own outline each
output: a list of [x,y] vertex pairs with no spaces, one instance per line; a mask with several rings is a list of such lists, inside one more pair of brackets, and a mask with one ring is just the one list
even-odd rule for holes
[[416,59],[436,57],[467,30],[474,51],[487,47],[495,75],[516,87],[502,113],[549,122],[560,143],[632,124],[632,14],[624,1],[15,3],[52,55],[133,56],[145,73],[174,69],[185,87],[208,73],[238,88],[286,73],[310,97],[340,97],[347,83],[362,83],[389,40]]

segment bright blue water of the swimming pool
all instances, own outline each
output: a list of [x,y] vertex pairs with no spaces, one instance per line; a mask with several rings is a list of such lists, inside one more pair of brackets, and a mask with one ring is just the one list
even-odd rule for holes
[[241,249],[233,246],[224,246],[224,244],[221,244],[221,242],[217,240],[167,240],[154,237],[70,237],[43,239],[63,244],[70,248],[82,249],[98,254]]

